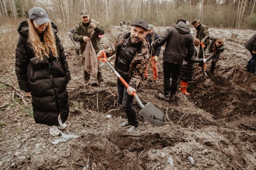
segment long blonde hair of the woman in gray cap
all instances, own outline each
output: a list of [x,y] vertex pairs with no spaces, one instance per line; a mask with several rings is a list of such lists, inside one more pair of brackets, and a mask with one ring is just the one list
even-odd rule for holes
[[43,55],[49,58],[49,55],[52,54],[58,59],[58,50],[56,47],[56,39],[52,31],[52,24],[49,22],[44,30],[44,44],[40,41],[40,37],[33,25],[33,20],[28,19],[28,26],[28,42],[32,45],[36,57],[42,60]]

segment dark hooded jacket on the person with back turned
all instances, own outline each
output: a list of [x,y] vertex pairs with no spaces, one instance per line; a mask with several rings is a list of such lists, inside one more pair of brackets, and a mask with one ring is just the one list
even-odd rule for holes
[[[160,47],[164,43],[166,46],[163,60],[166,62],[182,65],[183,60],[189,61],[194,53],[194,37],[183,22],[166,29],[165,33],[153,42],[152,46]],[[187,51],[188,55],[186,56]]]

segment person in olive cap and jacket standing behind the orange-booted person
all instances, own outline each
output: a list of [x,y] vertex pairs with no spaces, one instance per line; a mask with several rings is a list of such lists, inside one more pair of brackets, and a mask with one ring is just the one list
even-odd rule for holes
[[[192,25],[196,28],[196,38],[198,38],[200,41],[202,41],[202,39],[204,37],[206,37],[207,35],[210,35],[209,31],[208,31],[208,27],[206,25],[203,25],[202,23],[199,22],[200,20],[196,20],[194,19],[192,21]],[[207,46],[209,45],[210,41],[208,40],[207,43],[205,43],[205,49],[207,48]],[[198,58],[202,59],[204,58],[203,55],[203,50],[202,47],[200,46],[199,48],[199,54],[198,54]],[[200,63],[199,66],[203,67],[203,64]]]

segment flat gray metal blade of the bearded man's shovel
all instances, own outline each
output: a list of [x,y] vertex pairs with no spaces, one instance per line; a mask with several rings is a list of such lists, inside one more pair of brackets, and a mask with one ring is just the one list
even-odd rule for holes
[[155,126],[163,126],[166,121],[166,115],[150,102],[141,109],[140,115]]

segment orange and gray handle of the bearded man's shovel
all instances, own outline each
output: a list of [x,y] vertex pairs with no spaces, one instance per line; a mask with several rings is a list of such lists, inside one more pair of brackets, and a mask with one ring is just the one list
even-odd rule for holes
[[[122,78],[120,76],[120,74],[112,67],[112,65],[108,62],[106,53],[104,51],[101,52],[104,56],[104,58],[102,57],[98,57],[98,59],[100,61],[104,61],[110,68],[111,70],[118,76],[119,80],[121,80],[121,82],[124,84],[124,86],[126,86],[126,88],[130,87],[129,84],[124,80],[124,78]],[[137,100],[137,102],[139,103],[141,108],[144,108],[145,106],[142,104],[142,102],[140,101],[139,97],[137,96],[137,94],[135,92],[132,93],[132,95],[134,96],[134,98]]]

